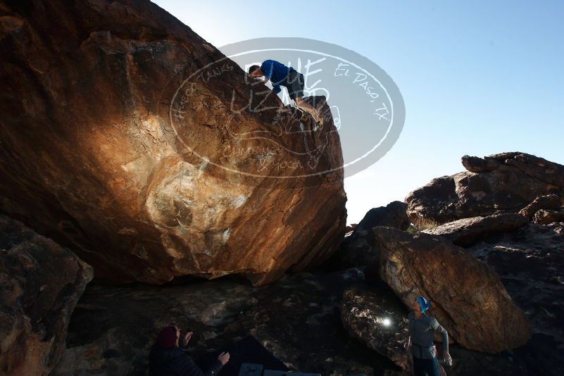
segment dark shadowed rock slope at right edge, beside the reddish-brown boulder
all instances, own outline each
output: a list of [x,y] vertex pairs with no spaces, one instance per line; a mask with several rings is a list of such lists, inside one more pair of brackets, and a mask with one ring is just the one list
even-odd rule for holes
[[529,224],[468,248],[496,270],[529,318],[532,339],[511,351],[527,363],[529,374],[564,374],[564,237],[558,232],[563,227]]

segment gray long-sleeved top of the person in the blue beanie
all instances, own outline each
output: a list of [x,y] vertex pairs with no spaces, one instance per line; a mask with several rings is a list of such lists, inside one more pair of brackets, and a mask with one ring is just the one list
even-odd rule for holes
[[434,332],[441,333],[443,337],[443,349],[449,350],[449,333],[444,327],[441,327],[436,318],[423,314],[421,318],[416,319],[415,314],[410,312],[409,320],[409,336],[411,337],[411,353],[415,358],[432,359],[433,336]]

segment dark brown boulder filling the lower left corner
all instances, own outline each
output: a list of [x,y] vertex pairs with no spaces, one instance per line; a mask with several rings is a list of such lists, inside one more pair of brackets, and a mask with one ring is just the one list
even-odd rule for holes
[[51,372],[90,280],[92,268],[73,252],[0,215],[0,374]]

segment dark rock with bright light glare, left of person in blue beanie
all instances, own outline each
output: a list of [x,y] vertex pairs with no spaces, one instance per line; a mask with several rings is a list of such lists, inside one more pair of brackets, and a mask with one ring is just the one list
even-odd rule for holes
[[409,337],[407,311],[393,293],[356,285],[343,294],[341,320],[345,329],[370,349],[411,371],[411,351],[401,341]]

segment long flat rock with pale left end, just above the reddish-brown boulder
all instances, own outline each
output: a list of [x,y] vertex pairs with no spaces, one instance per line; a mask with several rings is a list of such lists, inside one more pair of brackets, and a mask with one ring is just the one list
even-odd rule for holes
[[446,237],[457,246],[469,246],[486,235],[513,231],[527,223],[529,220],[520,214],[501,213],[487,217],[463,218],[422,232]]

